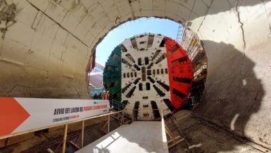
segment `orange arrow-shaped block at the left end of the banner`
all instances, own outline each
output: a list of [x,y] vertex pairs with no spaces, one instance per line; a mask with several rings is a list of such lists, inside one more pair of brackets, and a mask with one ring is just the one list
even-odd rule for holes
[[30,114],[11,97],[0,97],[0,136],[11,134]]

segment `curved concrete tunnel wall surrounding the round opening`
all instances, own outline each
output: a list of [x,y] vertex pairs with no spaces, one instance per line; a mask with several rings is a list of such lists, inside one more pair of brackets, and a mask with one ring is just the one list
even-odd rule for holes
[[206,50],[206,90],[193,113],[271,148],[269,0],[7,1],[17,22],[0,39],[1,96],[88,99],[86,69],[106,33],[164,17],[187,24]]

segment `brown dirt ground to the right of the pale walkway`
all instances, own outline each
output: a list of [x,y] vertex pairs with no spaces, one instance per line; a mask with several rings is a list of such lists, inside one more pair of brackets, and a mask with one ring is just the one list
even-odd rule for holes
[[[185,140],[179,143],[179,145],[172,147],[170,153],[270,152],[270,150],[252,144],[248,140],[238,138],[221,127],[216,127],[214,124],[193,117],[190,111],[178,111],[174,113],[173,117],[178,122],[178,126],[175,126],[170,118],[165,120],[165,124],[168,125],[174,136],[181,135]],[[169,137],[167,137],[167,140],[169,140]]]

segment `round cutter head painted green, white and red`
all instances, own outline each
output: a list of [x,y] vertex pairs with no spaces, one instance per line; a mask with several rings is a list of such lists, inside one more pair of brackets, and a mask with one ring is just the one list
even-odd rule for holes
[[109,56],[104,87],[133,120],[160,120],[186,102],[192,63],[180,45],[160,34],[124,40]]

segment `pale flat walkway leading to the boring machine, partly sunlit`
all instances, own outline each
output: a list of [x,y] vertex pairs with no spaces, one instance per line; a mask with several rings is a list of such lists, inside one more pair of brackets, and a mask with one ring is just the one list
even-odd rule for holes
[[77,153],[168,152],[163,122],[138,121],[111,131]]

